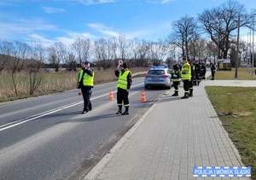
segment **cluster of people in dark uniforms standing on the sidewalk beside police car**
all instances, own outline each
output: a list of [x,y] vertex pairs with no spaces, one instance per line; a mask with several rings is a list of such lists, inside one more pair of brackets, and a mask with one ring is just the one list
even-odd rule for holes
[[[210,61],[210,69],[212,72],[212,79],[214,80],[214,74],[216,71],[215,64]],[[182,99],[188,99],[189,96],[193,96],[193,86],[199,85],[201,79],[206,78],[207,66],[204,61],[191,61],[189,58],[183,58],[183,64],[179,61],[174,61],[172,67],[172,85],[174,87],[174,94],[172,96],[178,96],[178,85],[180,81],[183,81],[184,96]]]

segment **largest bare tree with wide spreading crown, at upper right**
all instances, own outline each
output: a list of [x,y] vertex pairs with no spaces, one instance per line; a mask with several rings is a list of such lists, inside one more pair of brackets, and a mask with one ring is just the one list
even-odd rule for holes
[[238,26],[249,25],[251,16],[246,12],[244,5],[236,0],[228,0],[218,8],[207,9],[198,16],[202,29],[209,34],[218,49],[218,58],[227,58],[232,32]]

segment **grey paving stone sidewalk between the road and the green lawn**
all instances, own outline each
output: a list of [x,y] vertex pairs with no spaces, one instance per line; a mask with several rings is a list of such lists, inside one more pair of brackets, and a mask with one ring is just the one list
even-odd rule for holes
[[205,85],[254,86],[256,81],[203,80],[194,96],[173,90],[150,107],[84,180],[251,179],[193,177],[194,166],[244,166],[207,98]]

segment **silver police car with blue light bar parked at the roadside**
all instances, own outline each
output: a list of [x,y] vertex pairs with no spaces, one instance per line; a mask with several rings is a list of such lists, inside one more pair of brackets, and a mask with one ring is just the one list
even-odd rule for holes
[[154,66],[145,75],[144,87],[165,87],[171,89],[171,71],[166,66]]

